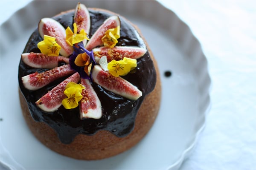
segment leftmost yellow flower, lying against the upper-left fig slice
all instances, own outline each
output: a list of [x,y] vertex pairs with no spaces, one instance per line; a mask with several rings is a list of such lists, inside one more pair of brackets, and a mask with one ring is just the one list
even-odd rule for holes
[[61,46],[55,40],[55,37],[44,35],[44,40],[38,42],[38,48],[41,53],[49,56],[58,56],[61,50]]

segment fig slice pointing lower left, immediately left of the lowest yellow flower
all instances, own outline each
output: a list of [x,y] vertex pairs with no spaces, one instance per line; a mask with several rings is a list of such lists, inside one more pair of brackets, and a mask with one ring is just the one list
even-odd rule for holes
[[47,94],[38,99],[35,104],[38,108],[46,112],[52,112],[57,110],[61,106],[61,102],[67,96],[64,94],[64,90],[69,82],[78,83],[80,76],[78,73],[73,74],[69,78],[65,79],[63,82],[52,88]]

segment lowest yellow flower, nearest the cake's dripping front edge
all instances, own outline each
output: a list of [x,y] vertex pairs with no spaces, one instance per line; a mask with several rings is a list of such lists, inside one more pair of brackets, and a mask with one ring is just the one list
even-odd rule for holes
[[85,89],[83,85],[69,82],[65,88],[64,94],[67,98],[62,100],[62,105],[66,109],[73,109],[78,106],[78,102],[83,98],[82,90]]

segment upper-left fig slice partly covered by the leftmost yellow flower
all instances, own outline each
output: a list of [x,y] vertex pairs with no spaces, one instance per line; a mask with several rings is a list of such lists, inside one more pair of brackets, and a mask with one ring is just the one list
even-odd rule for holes
[[61,46],[60,54],[68,57],[73,53],[73,48],[66,42],[66,30],[52,18],[43,18],[38,24],[38,31],[42,38],[48,35],[56,38],[56,42]]

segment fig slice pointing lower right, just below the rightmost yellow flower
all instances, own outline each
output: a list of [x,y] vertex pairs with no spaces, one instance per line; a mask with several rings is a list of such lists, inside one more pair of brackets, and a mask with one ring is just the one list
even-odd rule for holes
[[92,71],[93,81],[108,91],[126,97],[131,100],[137,100],[142,96],[142,92],[134,85],[122,77],[114,77],[108,71],[102,70],[99,65],[95,65]]

